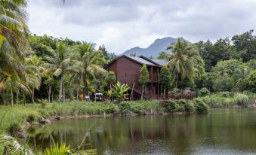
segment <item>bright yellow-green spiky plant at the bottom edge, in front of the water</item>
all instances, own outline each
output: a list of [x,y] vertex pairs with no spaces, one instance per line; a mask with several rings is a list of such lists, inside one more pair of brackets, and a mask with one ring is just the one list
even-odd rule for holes
[[69,155],[72,154],[69,150],[69,146],[66,147],[66,144],[54,144],[49,148],[45,149],[44,155]]

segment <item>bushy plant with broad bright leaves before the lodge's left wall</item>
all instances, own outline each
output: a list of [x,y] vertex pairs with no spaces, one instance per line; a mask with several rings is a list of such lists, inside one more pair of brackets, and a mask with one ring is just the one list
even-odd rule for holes
[[128,99],[128,84],[121,84],[119,81],[113,87],[113,96],[115,97],[117,102],[122,102],[125,99]]

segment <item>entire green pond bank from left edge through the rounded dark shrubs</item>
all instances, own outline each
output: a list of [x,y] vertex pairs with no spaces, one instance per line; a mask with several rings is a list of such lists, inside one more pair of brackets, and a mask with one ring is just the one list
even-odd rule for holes
[[[177,110],[174,108],[177,108]],[[73,101],[51,104],[42,102],[42,104],[14,105],[13,107],[1,105],[0,132],[13,136],[17,136],[17,133],[20,133],[23,136],[23,131],[29,128],[31,124],[51,123],[51,121],[59,120],[61,117],[153,115],[164,114],[165,112],[192,113],[196,111],[201,113],[202,110],[207,111],[207,109],[208,107],[203,102],[186,102],[185,100],[167,102],[165,106],[162,106],[156,100],[122,102],[119,104],[112,102]]]

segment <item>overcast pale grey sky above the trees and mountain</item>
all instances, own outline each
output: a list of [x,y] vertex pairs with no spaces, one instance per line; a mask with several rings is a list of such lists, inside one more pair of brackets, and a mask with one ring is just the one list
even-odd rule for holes
[[28,12],[32,33],[105,44],[115,53],[156,38],[216,41],[256,28],[256,0],[29,0]]

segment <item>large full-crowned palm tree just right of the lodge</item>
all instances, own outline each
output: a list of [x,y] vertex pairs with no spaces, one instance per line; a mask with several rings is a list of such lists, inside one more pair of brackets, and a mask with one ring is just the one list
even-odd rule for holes
[[167,50],[172,50],[173,53],[168,57],[168,67],[172,74],[176,74],[176,88],[179,78],[192,79],[194,75],[199,76],[204,71],[204,62],[199,51],[183,38],[178,38]]

